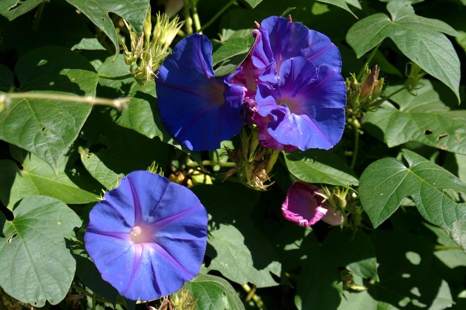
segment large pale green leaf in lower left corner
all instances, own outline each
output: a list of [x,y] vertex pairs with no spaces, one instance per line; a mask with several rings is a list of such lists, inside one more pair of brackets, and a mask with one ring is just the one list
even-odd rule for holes
[[[0,285],[24,303],[43,307],[65,298],[76,262],[63,236],[81,220],[63,202],[47,196],[26,196],[2,225]],[[0,221],[1,222],[1,221]]]

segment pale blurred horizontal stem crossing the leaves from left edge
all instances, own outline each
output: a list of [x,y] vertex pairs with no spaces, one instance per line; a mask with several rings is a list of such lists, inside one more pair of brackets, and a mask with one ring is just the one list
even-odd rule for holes
[[38,99],[38,100],[60,100],[85,103],[90,105],[106,105],[113,107],[119,111],[128,107],[129,97],[116,99],[107,99],[93,96],[76,96],[76,95],[59,95],[51,93],[9,93],[0,94],[0,102],[4,102],[6,106],[11,104],[12,99]]

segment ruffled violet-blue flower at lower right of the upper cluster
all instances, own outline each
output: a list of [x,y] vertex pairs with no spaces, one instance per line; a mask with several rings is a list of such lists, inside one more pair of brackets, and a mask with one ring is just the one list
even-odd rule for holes
[[259,115],[271,117],[267,131],[278,143],[330,149],[341,139],[346,87],[334,67],[316,68],[304,57],[288,59],[276,85],[258,84],[256,101]]

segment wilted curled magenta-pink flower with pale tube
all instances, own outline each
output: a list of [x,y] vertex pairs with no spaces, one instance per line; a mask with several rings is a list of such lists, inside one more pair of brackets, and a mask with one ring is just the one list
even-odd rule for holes
[[319,220],[330,225],[340,225],[343,216],[327,206],[324,198],[317,194],[320,189],[307,182],[294,181],[286,192],[282,204],[282,215],[299,226],[309,227]]

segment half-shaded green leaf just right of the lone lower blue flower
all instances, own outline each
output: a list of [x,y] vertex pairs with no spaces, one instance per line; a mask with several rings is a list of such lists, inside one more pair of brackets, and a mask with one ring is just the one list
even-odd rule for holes
[[[241,285],[249,282],[257,287],[277,286],[271,273],[280,275],[280,258],[248,216],[257,193],[242,191],[238,195],[243,189],[234,184],[196,186],[192,190],[211,215],[206,254],[212,261],[207,269],[218,270]],[[219,201],[223,201],[222,208]]]

